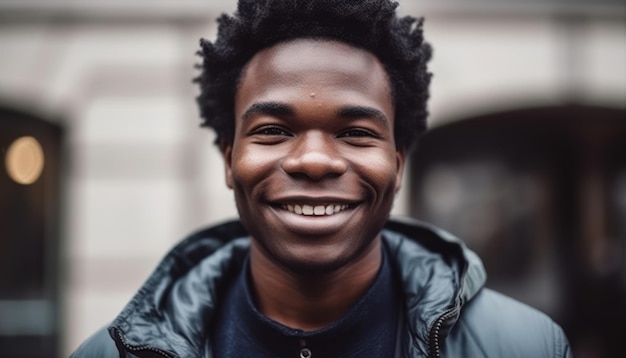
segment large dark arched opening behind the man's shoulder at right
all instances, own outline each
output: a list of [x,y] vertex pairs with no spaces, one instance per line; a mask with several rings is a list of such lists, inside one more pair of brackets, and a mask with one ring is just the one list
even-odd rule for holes
[[626,112],[564,106],[429,131],[410,164],[412,216],[483,259],[487,286],[565,329],[576,357],[623,350]]

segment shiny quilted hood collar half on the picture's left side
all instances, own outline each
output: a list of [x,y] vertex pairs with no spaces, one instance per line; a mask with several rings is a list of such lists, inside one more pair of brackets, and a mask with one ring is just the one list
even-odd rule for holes
[[[118,347],[165,357],[204,357],[216,294],[243,266],[247,236],[238,221],[197,231],[159,263],[109,327]],[[167,339],[164,339],[167,337]]]

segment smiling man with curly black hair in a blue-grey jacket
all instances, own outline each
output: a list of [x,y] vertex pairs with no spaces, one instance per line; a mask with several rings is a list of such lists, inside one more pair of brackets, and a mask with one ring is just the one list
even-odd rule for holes
[[76,357],[566,357],[456,238],[389,220],[430,47],[389,0],[240,0],[199,104],[240,222],[172,250]]

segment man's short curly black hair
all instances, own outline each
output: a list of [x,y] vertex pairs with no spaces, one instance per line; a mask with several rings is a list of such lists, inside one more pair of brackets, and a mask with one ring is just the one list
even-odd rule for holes
[[398,17],[390,0],[239,0],[233,16],[218,18],[214,43],[200,40],[198,104],[202,126],[217,134],[216,144],[232,144],[234,99],[242,69],[260,50],[296,38],[337,40],[373,53],[389,75],[396,118],[397,148],[409,149],[426,130],[426,63],[423,19]]

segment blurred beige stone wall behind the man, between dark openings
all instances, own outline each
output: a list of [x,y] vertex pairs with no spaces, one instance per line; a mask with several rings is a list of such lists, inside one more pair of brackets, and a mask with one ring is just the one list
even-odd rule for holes
[[[236,213],[190,83],[198,38],[212,37],[209,19],[230,3],[202,16],[178,9],[173,20],[167,11],[146,20],[83,9],[0,25],[0,101],[67,133],[64,356],[119,312],[183,235]],[[622,18],[425,15],[435,125],[572,100],[626,107]],[[395,212],[405,203],[400,193]]]

